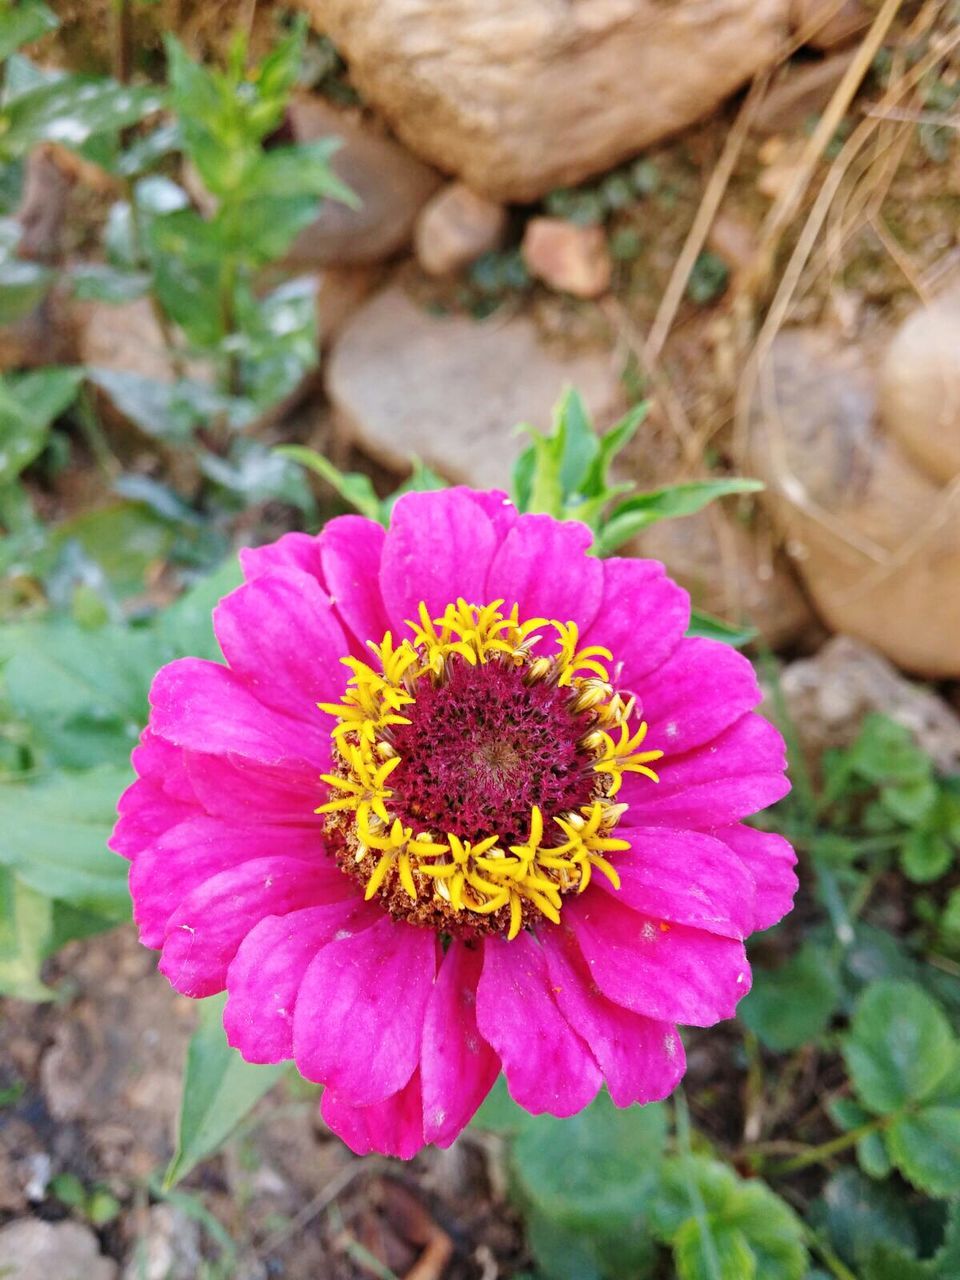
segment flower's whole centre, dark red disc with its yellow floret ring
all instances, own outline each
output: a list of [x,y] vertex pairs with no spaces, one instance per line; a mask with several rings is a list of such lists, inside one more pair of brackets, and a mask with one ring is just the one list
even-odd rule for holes
[[[317,813],[340,867],[397,919],[458,936],[516,937],[559,922],[564,895],[608,854],[623,773],[658,781],[635,699],[609,682],[608,650],[579,649],[572,622],[521,622],[503,600],[457,600],[412,637],[369,641],[337,718],[332,797]],[[550,643],[553,641],[553,643]]]

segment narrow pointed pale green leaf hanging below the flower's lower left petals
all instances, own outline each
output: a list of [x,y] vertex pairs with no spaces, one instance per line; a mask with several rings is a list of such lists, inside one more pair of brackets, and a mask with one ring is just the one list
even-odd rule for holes
[[165,1189],[215,1155],[285,1070],[285,1062],[244,1062],[230,1048],[223,1029],[225,1002],[225,995],[211,996],[200,1006],[200,1023],[187,1050],[177,1151],[164,1178]]

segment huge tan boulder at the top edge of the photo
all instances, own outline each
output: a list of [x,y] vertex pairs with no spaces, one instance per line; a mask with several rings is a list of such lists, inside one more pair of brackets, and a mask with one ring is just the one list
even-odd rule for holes
[[495,200],[530,201],[709,114],[777,59],[790,0],[306,8],[411,150]]

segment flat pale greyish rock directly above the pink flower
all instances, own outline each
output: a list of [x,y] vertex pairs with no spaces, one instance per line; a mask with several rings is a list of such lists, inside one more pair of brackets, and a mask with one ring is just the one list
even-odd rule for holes
[[566,385],[599,422],[620,410],[604,355],[562,358],[526,316],[477,323],[417,307],[398,287],[353,316],[326,362],[338,425],[361,449],[403,470],[417,454],[451,480],[506,486],[524,447],[518,422],[547,428]]

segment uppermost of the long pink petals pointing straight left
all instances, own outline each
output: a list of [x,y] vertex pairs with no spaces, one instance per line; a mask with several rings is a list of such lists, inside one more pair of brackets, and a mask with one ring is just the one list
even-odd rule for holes
[[317,712],[316,728],[270,710],[243,680],[215,662],[178,658],[161,667],[150,690],[155,733],[177,746],[239,755],[261,764],[294,762],[323,769],[330,731]]

